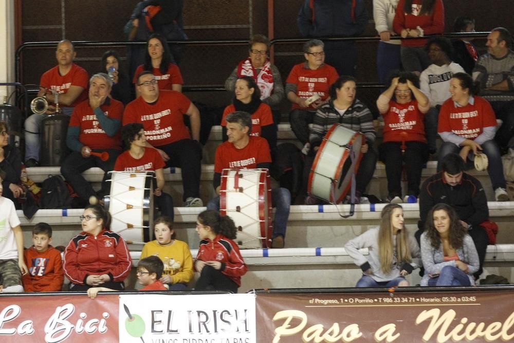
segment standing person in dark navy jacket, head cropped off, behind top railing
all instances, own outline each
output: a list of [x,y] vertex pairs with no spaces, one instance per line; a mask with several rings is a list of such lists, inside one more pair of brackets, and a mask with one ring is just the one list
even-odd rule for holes
[[[298,14],[303,37],[354,37],[368,25],[363,0],[305,0]],[[325,42],[326,62],[339,75],[357,76],[357,48],[354,41]]]

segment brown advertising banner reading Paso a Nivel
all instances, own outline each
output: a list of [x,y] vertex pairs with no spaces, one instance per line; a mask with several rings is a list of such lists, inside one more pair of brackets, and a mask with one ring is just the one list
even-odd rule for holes
[[[391,290],[393,291],[393,290]],[[258,341],[514,341],[514,292],[258,294]]]

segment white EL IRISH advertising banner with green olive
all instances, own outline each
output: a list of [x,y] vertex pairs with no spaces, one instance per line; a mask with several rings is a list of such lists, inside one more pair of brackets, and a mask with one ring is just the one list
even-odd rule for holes
[[255,295],[120,295],[119,341],[255,343]]

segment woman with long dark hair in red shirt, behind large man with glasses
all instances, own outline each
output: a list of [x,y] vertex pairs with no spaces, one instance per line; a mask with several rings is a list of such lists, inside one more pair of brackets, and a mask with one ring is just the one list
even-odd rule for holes
[[[173,63],[168,42],[160,34],[154,33],[146,41],[144,64],[137,67],[132,83],[137,84],[137,78],[142,71],[151,71],[157,80],[159,89],[170,89],[182,92],[184,80],[180,69]],[[136,98],[139,96],[136,87]]]

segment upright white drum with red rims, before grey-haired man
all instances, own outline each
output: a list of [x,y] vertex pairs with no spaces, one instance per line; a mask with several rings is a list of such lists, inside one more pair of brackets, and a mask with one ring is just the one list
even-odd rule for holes
[[234,240],[242,249],[271,244],[271,185],[267,169],[224,169],[219,207],[237,227]]

